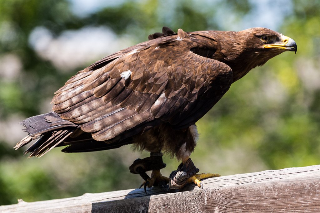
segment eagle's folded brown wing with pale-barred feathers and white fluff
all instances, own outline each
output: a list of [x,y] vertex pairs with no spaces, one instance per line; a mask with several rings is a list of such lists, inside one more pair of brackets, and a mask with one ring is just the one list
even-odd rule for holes
[[60,133],[65,151],[117,148],[161,123],[188,127],[224,95],[231,68],[190,51],[197,44],[182,30],[167,34],[105,57],[55,93],[53,112],[81,128]]

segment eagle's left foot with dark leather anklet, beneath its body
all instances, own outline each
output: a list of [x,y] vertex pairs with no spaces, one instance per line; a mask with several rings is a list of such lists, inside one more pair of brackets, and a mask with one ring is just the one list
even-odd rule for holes
[[[144,185],[144,190],[147,193],[147,186],[164,186],[169,183],[169,178],[164,177],[160,173],[160,169],[166,167],[166,164],[162,161],[162,153],[150,153],[150,157],[143,159],[136,159],[133,164],[129,167],[130,172],[133,174],[139,174],[145,182],[141,185]],[[152,171],[151,177],[148,176],[146,171]],[[141,187],[140,186],[140,187]]]

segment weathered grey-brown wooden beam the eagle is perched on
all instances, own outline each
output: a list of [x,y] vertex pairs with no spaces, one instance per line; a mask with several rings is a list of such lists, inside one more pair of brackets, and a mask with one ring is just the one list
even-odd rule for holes
[[320,165],[222,176],[164,194],[152,187],[0,206],[0,212],[320,212]]

